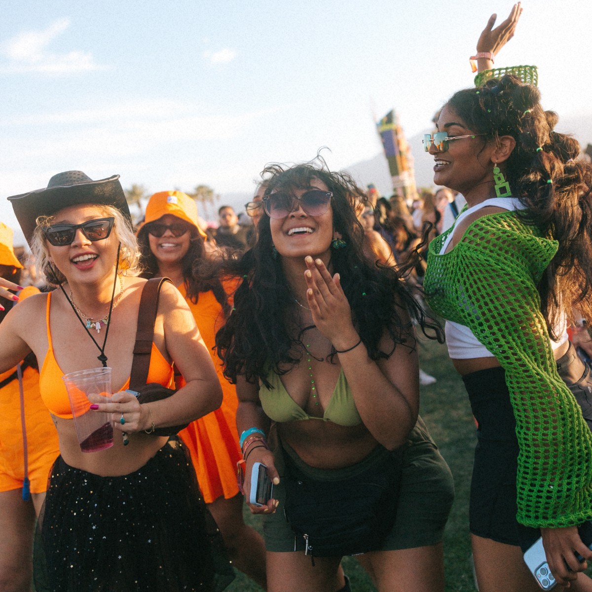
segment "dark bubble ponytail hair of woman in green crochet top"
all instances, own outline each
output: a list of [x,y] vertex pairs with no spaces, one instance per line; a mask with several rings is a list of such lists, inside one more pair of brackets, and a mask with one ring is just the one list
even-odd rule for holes
[[557,114],[543,110],[536,86],[515,76],[456,92],[448,105],[486,140],[516,140],[506,178],[526,208],[517,214],[559,242],[538,285],[549,334],[556,337],[556,320],[571,318],[572,307],[592,320],[592,168],[577,160],[578,141],[554,131]]

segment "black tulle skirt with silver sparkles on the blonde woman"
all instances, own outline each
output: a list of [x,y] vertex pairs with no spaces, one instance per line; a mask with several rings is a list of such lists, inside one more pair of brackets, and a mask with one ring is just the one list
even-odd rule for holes
[[218,591],[234,577],[176,438],[121,477],[81,471],[59,456],[34,554],[37,592]]

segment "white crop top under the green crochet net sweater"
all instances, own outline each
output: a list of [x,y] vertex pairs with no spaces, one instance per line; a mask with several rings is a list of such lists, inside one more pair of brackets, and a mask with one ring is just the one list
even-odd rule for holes
[[[466,216],[471,215],[473,212],[476,212],[477,210],[487,206],[504,208],[504,210],[509,211],[522,210],[524,208],[517,198],[494,197],[490,200],[482,201],[480,204],[474,205],[459,214],[456,218],[455,226]],[[446,248],[450,244],[453,234],[454,231],[452,231],[446,237],[446,240],[442,244],[442,249],[440,249],[440,255],[443,255],[446,252]],[[560,348],[568,340],[567,318],[563,317],[559,323],[559,327],[556,329],[559,330],[556,330],[555,334],[561,334],[561,337],[559,337],[559,341],[554,341],[552,339],[550,340],[551,348],[554,350]],[[446,346],[448,346],[448,355],[452,359],[494,358],[493,353],[485,348],[485,346],[477,339],[477,337],[475,337],[471,329],[465,325],[455,323],[454,321],[446,321],[445,333]]]

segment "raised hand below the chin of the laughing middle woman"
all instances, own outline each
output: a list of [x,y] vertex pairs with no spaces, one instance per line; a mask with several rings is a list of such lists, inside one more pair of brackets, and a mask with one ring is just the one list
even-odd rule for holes
[[306,298],[314,324],[335,349],[347,349],[359,337],[353,327],[351,309],[339,282],[339,274],[331,276],[320,259],[313,260],[308,256],[305,262]]

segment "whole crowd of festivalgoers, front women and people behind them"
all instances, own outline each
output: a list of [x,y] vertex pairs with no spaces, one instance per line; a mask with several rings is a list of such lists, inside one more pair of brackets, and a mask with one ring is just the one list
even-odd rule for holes
[[[348,592],[355,555],[379,592],[443,592],[454,484],[417,333],[446,338],[478,426],[479,590],[592,590],[592,166],[536,70],[493,68],[521,12],[424,136],[435,192],[317,155],[266,165],[215,228],[173,190],[134,227],[119,175],[8,198],[31,255],[0,223],[0,590],[223,590],[234,567]],[[89,370],[112,392],[70,404]]]

